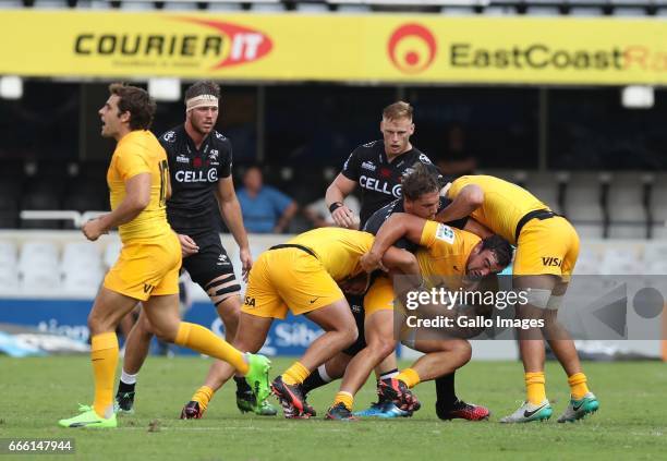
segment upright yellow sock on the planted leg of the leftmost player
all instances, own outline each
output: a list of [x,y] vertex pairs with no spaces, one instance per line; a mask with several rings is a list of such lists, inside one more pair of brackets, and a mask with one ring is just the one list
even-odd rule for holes
[[113,413],[113,379],[118,366],[118,338],[114,331],[90,338],[90,360],[95,376],[95,413],[111,417]]

